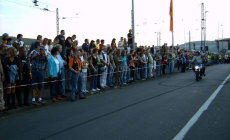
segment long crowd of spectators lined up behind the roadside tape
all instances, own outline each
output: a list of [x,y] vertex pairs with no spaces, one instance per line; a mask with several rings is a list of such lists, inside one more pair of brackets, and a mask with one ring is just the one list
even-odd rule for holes
[[[129,30],[127,40],[121,37],[118,43],[115,38],[109,45],[103,39],[85,39],[79,46],[76,35],[65,38],[62,30],[53,41],[38,35],[27,49],[22,34],[13,41],[4,33],[0,44],[0,110],[29,106],[29,100],[43,103],[45,83],[53,102],[64,98],[74,101],[76,95],[86,99],[86,94],[108,87],[192,69],[194,51],[167,44],[137,47],[132,45],[133,38]],[[207,65],[229,62],[228,54],[202,52],[202,56]]]

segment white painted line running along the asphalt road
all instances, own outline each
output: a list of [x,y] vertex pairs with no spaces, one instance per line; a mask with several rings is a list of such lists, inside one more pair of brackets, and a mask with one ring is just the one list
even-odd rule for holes
[[220,90],[224,87],[224,84],[230,78],[230,74],[225,80],[219,85],[219,87],[212,93],[212,95],[208,98],[208,100],[200,107],[200,109],[193,115],[193,117],[187,122],[187,124],[181,129],[181,131],[173,138],[173,140],[182,140],[184,136],[188,133],[190,128],[197,122],[199,117],[203,114],[205,110],[208,109],[209,105],[219,94]]

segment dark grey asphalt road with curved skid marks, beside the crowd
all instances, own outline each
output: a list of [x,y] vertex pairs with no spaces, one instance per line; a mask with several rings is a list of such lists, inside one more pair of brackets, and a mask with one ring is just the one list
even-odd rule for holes
[[[230,74],[230,64],[107,90],[0,118],[0,140],[171,140]],[[185,140],[230,139],[230,80]]]

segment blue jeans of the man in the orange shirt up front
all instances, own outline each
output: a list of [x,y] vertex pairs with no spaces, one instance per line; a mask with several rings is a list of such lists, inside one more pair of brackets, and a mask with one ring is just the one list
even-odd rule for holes
[[79,97],[83,97],[82,75],[72,73],[72,91],[71,91],[71,94],[70,94],[70,98],[72,100],[75,100],[75,92],[76,92],[76,90],[78,90],[78,92],[79,92]]

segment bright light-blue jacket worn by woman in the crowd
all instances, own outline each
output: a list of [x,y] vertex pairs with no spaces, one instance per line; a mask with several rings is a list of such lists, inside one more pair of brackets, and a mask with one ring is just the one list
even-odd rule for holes
[[50,55],[48,59],[48,77],[50,76],[58,77],[57,65],[52,55]]

